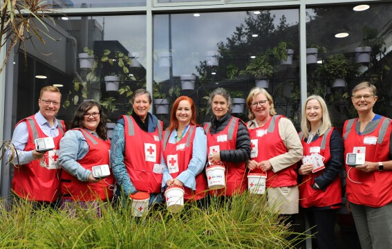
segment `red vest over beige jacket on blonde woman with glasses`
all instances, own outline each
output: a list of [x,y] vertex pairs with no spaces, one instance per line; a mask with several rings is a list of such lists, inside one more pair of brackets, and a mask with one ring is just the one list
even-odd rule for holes
[[[268,120],[263,127],[248,129],[250,135],[250,157],[256,162],[268,160],[274,156],[285,154],[288,150],[279,135],[279,120],[281,115],[275,115]],[[297,185],[297,165],[294,164],[286,169],[282,169],[276,174],[272,169],[267,172],[266,187],[290,187]],[[250,173],[259,173],[258,170]]]

